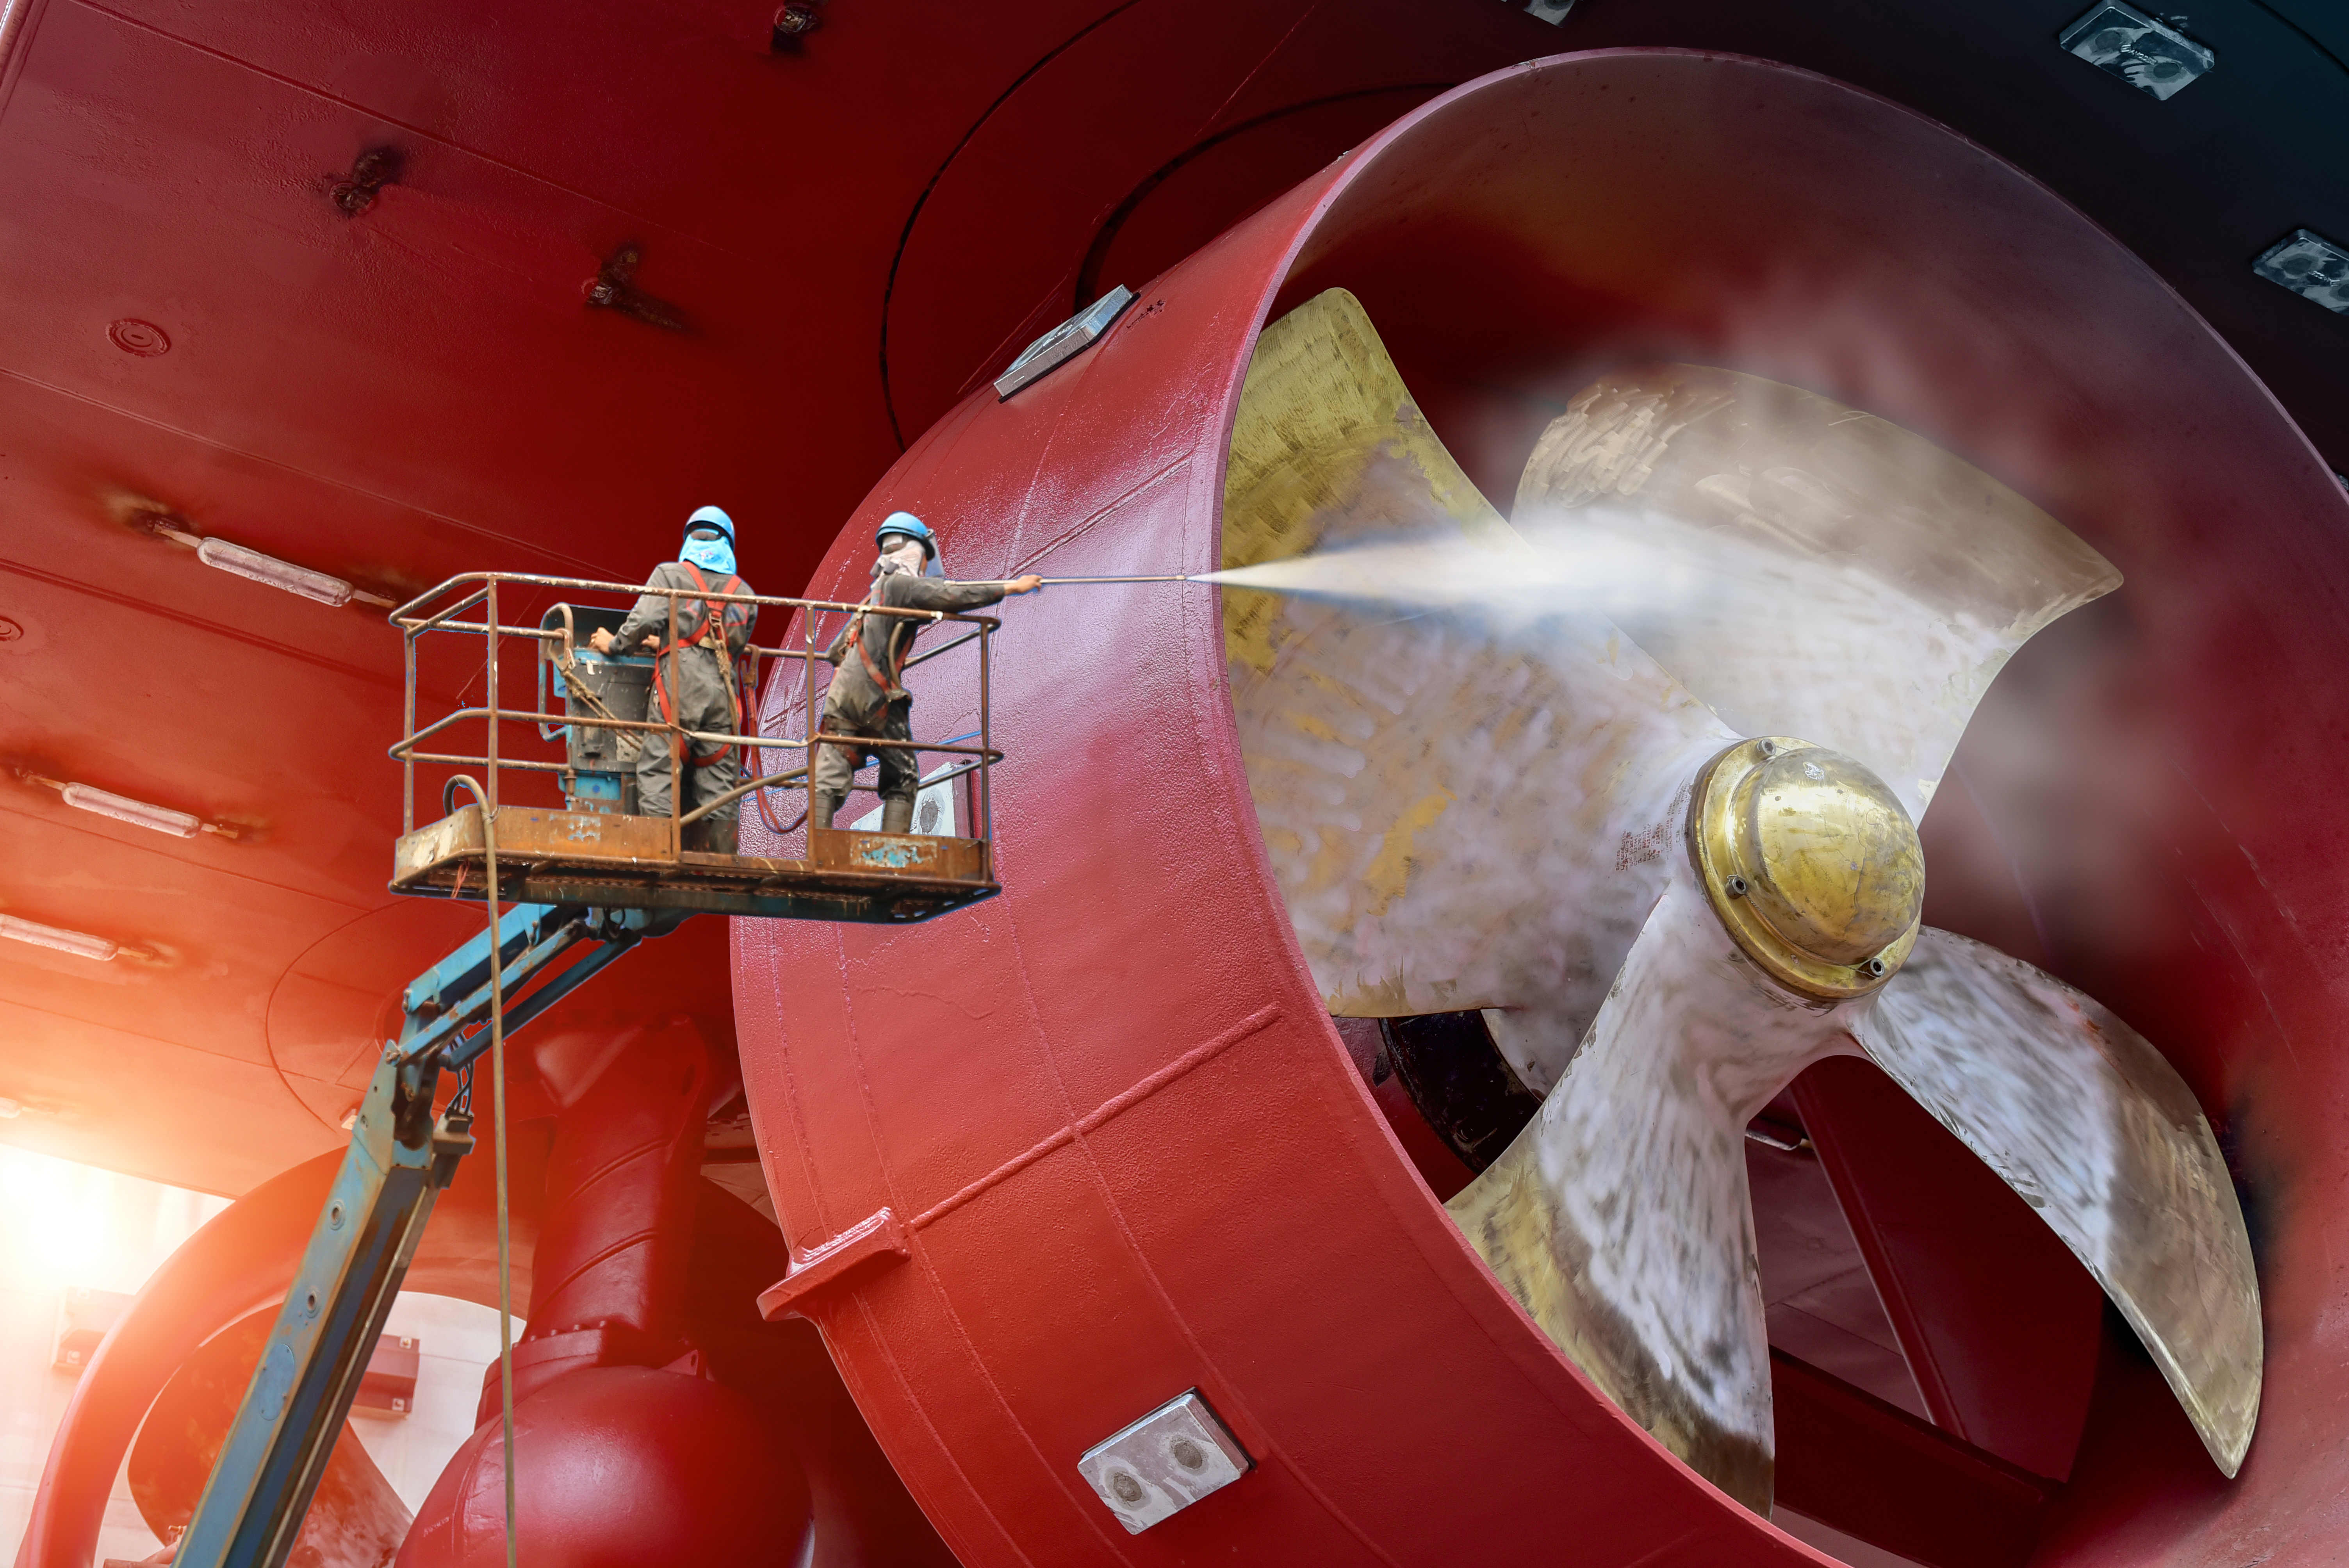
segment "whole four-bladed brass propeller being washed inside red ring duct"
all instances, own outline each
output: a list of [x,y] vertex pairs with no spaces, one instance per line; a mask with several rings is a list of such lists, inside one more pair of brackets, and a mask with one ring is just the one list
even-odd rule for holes
[[2062,1237],[2236,1472],[2260,1296],[2194,1094],[2093,998],[1919,925],[1914,822],[2013,650],[2119,587],[2102,556],[1896,425],[1698,366],[1574,397],[1503,521],[1332,289],[1259,338],[1224,566],[1315,984],[1339,1016],[1485,1009],[1546,1099],[1449,1211],[1607,1397],[1769,1509],[1743,1129],[1860,1054]]

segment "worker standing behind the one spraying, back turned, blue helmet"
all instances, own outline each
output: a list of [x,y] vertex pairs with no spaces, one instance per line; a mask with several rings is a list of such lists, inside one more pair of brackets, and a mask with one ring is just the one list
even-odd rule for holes
[[[754,603],[707,603],[691,594],[749,594],[749,584],[733,570],[733,519],[716,507],[700,507],[686,519],[686,542],[677,561],[653,568],[648,589],[681,589],[674,606],[677,646],[672,648],[667,594],[644,594],[620,622],[620,631],[601,627],[590,638],[597,653],[627,655],[641,643],[651,643],[660,655],[653,662],[653,711],[646,718],[684,725],[702,735],[742,735],[742,692],[735,690],[735,660],[749,643],[752,622],[759,620]],[[644,751],[637,753],[637,812],[644,817],[669,815],[669,786],[679,765],[686,786],[679,793],[684,812],[691,812],[735,786],[740,765],[733,746],[709,746],[684,742],[674,735],[639,732]],[[735,852],[735,812],[740,803],[728,800],[700,822],[686,826],[688,850],[714,854]]]

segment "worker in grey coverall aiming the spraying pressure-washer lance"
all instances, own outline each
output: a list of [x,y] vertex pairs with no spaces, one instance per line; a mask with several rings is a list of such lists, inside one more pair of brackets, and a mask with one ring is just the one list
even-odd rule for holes
[[[951,615],[982,610],[1005,594],[1034,594],[1043,587],[1043,577],[1034,573],[1010,582],[926,577],[923,570],[937,559],[937,540],[911,512],[890,512],[874,533],[874,545],[881,549],[881,559],[874,561],[874,587],[864,603]],[[839,667],[839,674],[832,676],[832,688],[824,692],[822,735],[914,739],[914,697],[904,690],[904,660],[923,624],[904,615],[857,613],[848,620],[824,655]],[[832,826],[832,817],[848,800],[848,782],[855,777],[860,751],[864,749],[853,744],[817,744],[810,826]],[[881,758],[881,831],[904,833],[914,826],[914,796],[921,791],[918,753],[895,746],[876,746],[874,753]]]

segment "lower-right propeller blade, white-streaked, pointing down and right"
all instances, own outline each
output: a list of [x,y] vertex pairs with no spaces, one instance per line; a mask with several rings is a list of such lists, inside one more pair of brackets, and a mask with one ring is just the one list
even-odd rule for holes
[[2095,998],[1931,927],[1851,1030],[2088,1265],[2232,1476],[2260,1418],[2260,1279],[2178,1070]]

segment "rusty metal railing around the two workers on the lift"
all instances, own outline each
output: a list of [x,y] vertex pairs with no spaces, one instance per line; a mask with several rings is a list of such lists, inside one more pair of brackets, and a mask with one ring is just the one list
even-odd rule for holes
[[[669,653],[677,650],[677,606],[679,606],[679,601],[700,601],[700,603],[709,606],[712,608],[709,610],[712,620],[716,620],[719,624],[723,624],[723,620],[721,620],[723,617],[723,608],[721,606],[735,606],[735,603],[756,606],[761,610],[782,610],[787,615],[796,613],[796,617],[799,617],[799,638],[796,638],[799,646],[782,646],[782,643],[778,643],[778,646],[747,643],[745,646],[742,655],[735,662],[735,695],[738,695],[738,709],[735,711],[742,716],[742,728],[747,728],[747,730],[759,728],[756,707],[759,707],[759,692],[763,688],[763,674],[768,669],[773,669],[775,662],[796,660],[803,667],[803,683],[801,683],[803,685],[803,697],[801,697],[801,704],[799,704],[799,711],[801,711],[801,732],[799,735],[719,735],[719,732],[707,732],[707,730],[688,730],[684,723],[674,723],[667,714],[658,714],[655,716],[653,707],[648,707],[648,711],[646,711],[646,716],[641,721],[615,718],[615,716],[583,718],[580,714],[568,714],[568,711],[566,714],[550,714],[550,711],[543,711],[543,702],[540,702],[540,707],[531,707],[531,709],[510,709],[510,707],[505,707],[505,702],[500,697],[500,683],[498,683],[498,676],[500,676],[498,655],[503,650],[505,638],[517,638],[517,641],[531,643],[531,648],[533,648],[533,664],[540,664],[540,667],[543,667],[545,660],[538,657],[538,650],[543,646],[547,646],[547,643],[557,643],[557,646],[564,648],[564,655],[566,655],[564,664],[571,664],[573,636],[576,636],[576,631],[573,631],[573,617],[571,615],[564,615],[561,624],[557,624],[557,627],[547,627],[543,622],[540,624],[507,624],[507,622],[500,620],[500,599],[507,601],[507,603],[512,603],[517,596],[538,599],[540,594],[545,594],[550,599],[559,599],[559,603],[564,603],[564,606],[578,606],[583,601],[578,601],[573,596],[578,596],[578,594],[592,594],[592,596],[599,596],[599,599],[611,599],[615,603],[594,603],[594,601],[587,601],[585,608],[622,610],[622,613],[627,608],[634,608],[637,599],[641,599],[641,596],[667,599],[667,603],[669,603],[667,636],[662,638],[660,650],[653,655],[655,657],[655,667],[658,667],[658,660],[669,657]],[[479,617],[477,620],[465,620],[465,615],[470,610],[477,610],[477,608],[479,608]],[[554,603],[547,603],[547,613],[552,613],[552,608],[554,608]],[[977,732],[970,737],[977,744],[916,742],[916,739],[879,739],[879,737],[867,737],[867,735],[839,735],[839,737],[834,737],[834,735],[827,735],[827,732],[820,730],[820,707],[817,707],[817,702],[822,697],[822,690],[815,683],[815,667],[822,664],[822,662],[827,662],[824,655],[822,655],[822,648],[829,643],[829,638],[824,636],[822,622],[824,622],[827,615],[848,617],[848,615],[855,615],[857,610],[862,610],[864,615],[886,615],[886,617],[914,620],[914,622],[923,622],[923,624],[951,622],[951,624],[970,627],[970,631],[965,631],[963,636],[958,636],[958,638],[954,638],[954,641],[949,641],[949,643],[944,643],[940,648],[930,648],[930,650],[923,650],[923,653],[909,657],[904,667],[911,669],[911,667],[923,664],[928,660],[935,660],[935,657],[940,657],[944,653],[954,653],[958,648],[965,648],[972,641],[977,643],[977,664],[980,664],[980,671],[977,671],[980,674],[980,681],[977,681],[977,709],[980,711],[977,711]],[[655,589],[655,587],[646,587],[646,584],[639,584],[639,582],[594,582],[594,580],[587,580],[587,577],[547,577],[547,575],[538,575],[538,573],[463,573],[463,575],[449,577],[446,582],[442,582],[442,584],[437,584],[432,589],[425,589],[423,594],[418,594],[409,603],[404,603],[397,610],[392,610],[390,613],[390,622],[395,627],[399,627],[399,634],[402,634],[402,671],[404,671],[404,683],[406,683],[406,697],[404,697],[404,707],[402,707],[404,732],[402,732],[399,742],[390,749],[392,761],[397,761],[402,765],[402,784],[399,784],[399,824],[402,824],[399,831],[402,833],[413,833],[416,831],[416,768],[418,765],[432,765],[432,768],[479,768],[482,770],[482,779],[484,779],[484,793],[486,793],[484,807],[489,812],[498,810],[498,803],[500,803],[500,779],[503,779],[505,772],[568,772],[571,770],[571,761],[568,758],[566,761],[545,761],[545,758],[514,756],[507,746],[500,744],[500,735],[503,735],[505,725],[524,723],[524,725],[536,725],[540,730],[540,735],[545,732],[545,725],[583,725],[583,728],[592,728],[592,730],[641,732],[644,735],[641,744],[653,744],[653,737],[658,735],[660,742],[669,746],[669,756],[672,756],[672,772],[669,772],[669,854],[672,857],[684,854],[684,838],[686,838],[684,829],[686,826],[691,826],[693,822],[700,822],[702,817],[707,817],[709,812],[714,812],[714,810],[719,810],[719,807],[723,807],[728,803],[735,803],[735,800],[742,800],[742,798],[749,798],[749,796],[761,796],[766,791],[782,791],[782,789],[794,789],[796,786],[796,793],[801,793],[801,796],[808,798],[808,815],[803,817],[803,822],[808,822],[813,826],[813,805],[815,805],[815,746],[822,746],[822,744],[836,744],[836,746],[843,746],[843,749],[853,749],[860,756],[864,751],[916,751],[916,753],[918,751],[935,751],[940,756],[961,756],[961,758],[968,758],[956,772],[958,775],[961,772],[975,775],[975,779],[972,779],[972,800],[970,800],[970,826],[972,826],[970,838],[977,838],[980,843],[989,843],[994,838],[994,793],[991,793],[994,791],[994,777],[991,777],[991,768],[994,768],[994,763],[1003,761],[1003,753],[996,751],[994,744],[991,744],[994,728],[991,728],[991,721],[989,721],[989,676],[991,676],[991,664],[994,664],[994,660],[991,660],[991,638],[994,638],[996,629],[1001,627],[1001,622],[996,617],[991,617],[991,615],[933,613],[933,610],[897,610],[897,608],[888,608],[888,606],[879,606],[879,603],[846,603],[846,601],[832,601],[832,599],[780,599],[780,596],[773,596],[773,594],[709,594],[709,592],[691,589],[691,587],[688,589]],[[460,695],[460,697],[456,697],[458,707],[451,707],[446,714],[442,714],[437,718],[430,718],[428,723],[418,725],[418,704],[420,704],[420,688],[418,688],[420,660],[418,660],[418,646],[425,638],[437,638],[437,636],[479,636],[479,638],[484,638],[484,657],[482,657],[482,674],[479,674],[484,702],[474,704],[474,707],[465,707],[463,704],[463,695]],[[573,669],[576,669],[576,664],[573,664]],[[472,683],[467,681],[463,690],[470,690],[470,685]],[[460,730],[460,725],[467,725],[467,723],[482,723],[486,728],[484,730],[484,746],[482,746],[482,751],[425,749],[428,742],[442,742],[442,746],[446,746],[449,742],[444,737],[456,735]],[[742,763],[745,763],[742,765],[745,777],[742,777],[742,782],[738,782],[733,789],[719,793],[716,798],[702,800],[693,810],[686,810],[688,779],[693,775],[693,746],[740,746],[742,749]],[[759,772],[752,763],[754,761],[763,761],[768,751],[801,751],[801,753],[806,753],[806,761],[799,768],[787,770],[787,772]],[[933,784],[935,784],[935,779],[933,779]],[[869,786],[850,784],[850,789],[857,791],[857,793],[864,793]],[[449,803],[444,800],[444,805],[449,805]],[[792,824],[792,826],[796,826],[796,824]]]

